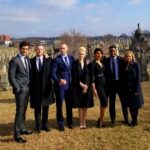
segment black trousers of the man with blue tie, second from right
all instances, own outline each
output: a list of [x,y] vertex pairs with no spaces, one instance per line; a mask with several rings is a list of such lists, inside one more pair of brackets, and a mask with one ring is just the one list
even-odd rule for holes
[[125,95],[123,91],[123,85],[120,83],[120,81],[113,81],[109,85],[109,113],[110,113],[110,118],[111,121],[114,122],[116,118],[116,95],[118,94],[121,102],[121,107],[122,107],[122,112],[123,112],[123,117],[126,122],[128,122],[128,110],[127,110],[127,105],[125,102]]

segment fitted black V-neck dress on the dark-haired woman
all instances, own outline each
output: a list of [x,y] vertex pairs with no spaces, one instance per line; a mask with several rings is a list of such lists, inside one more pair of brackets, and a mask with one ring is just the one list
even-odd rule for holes
[[105,77],[104,77],[104,67],[100,66],[95,60],[92,62],[93,68],[93,82],[95,83],[95,88],[97,90],[98,97],[100,99],[101,107],[106,107],[108,105],[106,90],[105,90]]

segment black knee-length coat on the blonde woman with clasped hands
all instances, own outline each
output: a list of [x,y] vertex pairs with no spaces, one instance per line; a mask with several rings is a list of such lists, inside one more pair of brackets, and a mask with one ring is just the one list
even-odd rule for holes
[[[94,106],[92,84],[90,82],[89,69],[86,62],[84,67],[81,67],[79,60],[73,64],[73,88],[72,88],[72,107],[73,108],[90,108]],[[83,93],[80,82],[88,85],[88,90]]]

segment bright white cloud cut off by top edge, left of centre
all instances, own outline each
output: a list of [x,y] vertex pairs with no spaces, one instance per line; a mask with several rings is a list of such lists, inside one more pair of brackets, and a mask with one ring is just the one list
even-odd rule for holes
[[34,0],[35,2],[58,9],[68,9],[77,4],[78,0]]

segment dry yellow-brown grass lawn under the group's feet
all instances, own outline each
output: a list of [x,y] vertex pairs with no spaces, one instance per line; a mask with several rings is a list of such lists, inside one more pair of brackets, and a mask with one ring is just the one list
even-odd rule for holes
[[[78,110],[74,109],[74,129],[66,128],[65,132],[57,130],[55,104],[50,106],[49,126],[51,131],[41,134],[33,133],[23,136],[28,140],[25,144],[13,142],[13,123],[15,101],[12,91],[0,93],[0,150],[150,150],[150,82],[142,83],[145,105],[139,112],[139,125],[135,128],[123,125],[120,102],[117,98],[116,126],[110,126],[108,110],[106,112],[106,128],[96,128],[99,114],[99,101],[95,99],[95,107],[88,110],[87,129],[78,127]],[[65,108],[64,108],[65,109]],[[64,111],[65,116],[65,111]],[[34,131],[34,113],[28,107],[26,126]]]

